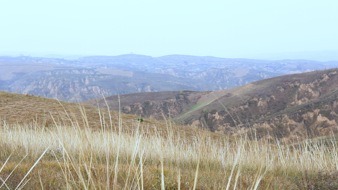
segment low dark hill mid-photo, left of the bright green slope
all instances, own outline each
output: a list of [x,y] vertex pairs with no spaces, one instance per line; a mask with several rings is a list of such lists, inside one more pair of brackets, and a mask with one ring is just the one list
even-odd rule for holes
[[[121,112],[165,120],[169,118],[169,116],[175,117],[184,114],[189,110],[189,106],[195,105],[203,94],[209,93],[210,91],[196,92],[181,90],[120,95]],[[106,98],[106,101],[111,110],[120,110],[118,95],[109,96]],[[82,104],[107,109],[103,98],[85,101],[82,102]]]

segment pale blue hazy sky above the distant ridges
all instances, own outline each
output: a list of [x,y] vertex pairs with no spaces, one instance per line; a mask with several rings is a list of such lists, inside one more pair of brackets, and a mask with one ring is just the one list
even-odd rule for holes
[[1,0],[0,51],[239,57],[338,49],[338,0]]

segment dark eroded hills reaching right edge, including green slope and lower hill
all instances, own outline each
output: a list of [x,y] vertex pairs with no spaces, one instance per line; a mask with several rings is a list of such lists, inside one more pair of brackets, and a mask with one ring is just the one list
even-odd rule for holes
[[[286,141],[329,135],[337,132],[337,72],[278,76],[220,91],[129,94],[121,96],[121,110],[157,119],[170,115],[177,123],[230,135],[253,133]],[[103,107],[104,100],[98,101]],[[117,96],[107,101],[111,109],[118,109]]]

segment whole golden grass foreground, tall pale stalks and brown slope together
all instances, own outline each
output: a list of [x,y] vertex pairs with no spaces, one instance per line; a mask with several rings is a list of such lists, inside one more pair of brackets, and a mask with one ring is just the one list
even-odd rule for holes
[[[254,132],[253,140],[234,138],[40,97],[0,95],[1,108],[12,106],[0,110],[0,190],[338,188],[335,136],[261,142]],[[43,119],[41,110],[34,112],[39,102],[51,110]]]

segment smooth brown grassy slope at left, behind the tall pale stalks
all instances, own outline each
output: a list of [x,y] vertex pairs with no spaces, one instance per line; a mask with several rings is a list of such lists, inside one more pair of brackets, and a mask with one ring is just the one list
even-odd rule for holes
[[[118,112],[111,111],[110,119],[107,110],[100,110],[102,123],[105,123],[105,126],[102,126],[99,110],[96,107],[82,106],[82,109],[80,109],[79,104],[67,102],[60,103],[55,99],[0,91],[0,123],[2,125],[4,123],[32,124],[48,127],[53,126],[55,120],[55,122],[61,126],[89,126],[93,130],[101,130],[102,127],[110,129],[110,121],[112,121],[113,130],[117,129],[119,126],[120,114]],[[81,110],[83,110],[84,113]],[[83,116],[84,114],[85,117]],[[133,131],[137,127],[138,120],[136,120],[135,115],[122,113],[121,120],[123,131]],[[188,139],[194,138],[196,133],[200,131],[191,126],[171,125],[163,120],[148,118],[144,118],[144,122],[140,123],[140,128],[143,128],[145,133],[152,131],[166,133],[168,129],[173,129],[174,131],[178,130]],[[211,134],[211,137],[219,138],[221,136],[218,134]]]

